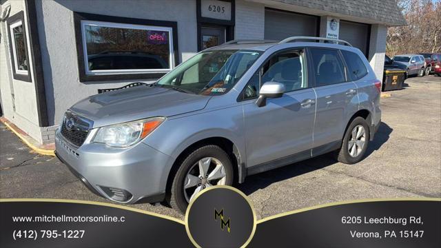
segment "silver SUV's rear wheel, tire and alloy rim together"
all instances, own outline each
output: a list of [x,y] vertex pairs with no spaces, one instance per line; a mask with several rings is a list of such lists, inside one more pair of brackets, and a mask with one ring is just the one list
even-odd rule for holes
[[360,116],[354,118],[343,137],[337,160],[349,165],[360,162],[369,145],[369,134],[366,120]]

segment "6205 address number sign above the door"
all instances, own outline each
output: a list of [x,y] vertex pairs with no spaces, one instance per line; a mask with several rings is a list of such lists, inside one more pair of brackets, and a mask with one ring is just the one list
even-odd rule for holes
[[232,3],[218,0],[202,0],[201,17],[230,21],[232,19]]

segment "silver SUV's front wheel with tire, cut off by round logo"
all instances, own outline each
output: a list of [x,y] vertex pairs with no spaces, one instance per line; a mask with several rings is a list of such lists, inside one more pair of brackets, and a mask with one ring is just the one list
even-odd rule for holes
[[232,185],[233,167],[228,154],[217,145],[205,145],[190,153],[176,172],[167,201],[176,211],[187,206],[203,189],[214,185]]

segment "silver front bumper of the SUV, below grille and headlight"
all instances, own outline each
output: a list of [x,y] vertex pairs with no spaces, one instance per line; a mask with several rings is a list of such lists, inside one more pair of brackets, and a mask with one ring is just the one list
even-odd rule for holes
[[165,198],[172,158],[138,143],[119,149],[85,143],[75,148],[61,134],[55,154],[91,192],[118,203],[156,203]]

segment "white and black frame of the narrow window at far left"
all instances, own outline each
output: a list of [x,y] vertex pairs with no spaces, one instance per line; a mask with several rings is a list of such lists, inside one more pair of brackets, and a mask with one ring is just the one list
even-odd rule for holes
[[[30,72],[30,56],[28,49],[28,36],[26,35],[26,23],[24,19],[23,11],[14,14],[12,17],[9,17],[7,20],[7,28],[8,28],[8,40],[9,40],[9,50],[10,50],[10,59],[12,65],[12,78],[19,81],[32,82],[31,72]],[[13,29],[19,26],[23,27],[23,41],[25,45],[25,59],[28,62],[28,70],[19,70],[19,61],[17,59],[17,50],[15,47],[15,39],[13,36]]]

